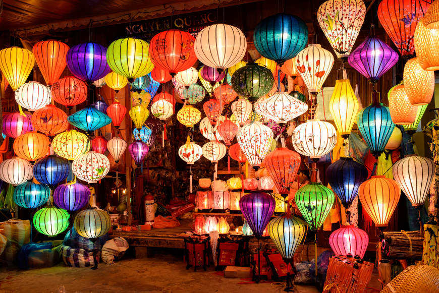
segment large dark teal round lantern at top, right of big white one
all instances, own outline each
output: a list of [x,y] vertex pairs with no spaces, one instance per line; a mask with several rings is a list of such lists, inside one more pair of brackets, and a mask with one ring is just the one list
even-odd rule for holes
[[253,33],[256,50],[282,66],[308,42],[308,27],[297,16],[278,13],[261,20]]

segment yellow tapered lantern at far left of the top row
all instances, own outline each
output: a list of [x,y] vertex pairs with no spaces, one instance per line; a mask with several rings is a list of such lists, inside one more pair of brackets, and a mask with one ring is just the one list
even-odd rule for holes
[[35,57],[27,49],[11,47],[0,51],[0,69],[13,90],[26,82],[34,63]]

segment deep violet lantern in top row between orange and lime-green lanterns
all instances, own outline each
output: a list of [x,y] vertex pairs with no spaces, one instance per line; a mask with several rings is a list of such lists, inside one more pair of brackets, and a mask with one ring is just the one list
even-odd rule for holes
[[80,80],[91,85],[111,72],[106,63],[106,48],[88,42],[73,46],[67,51],[67,67]]

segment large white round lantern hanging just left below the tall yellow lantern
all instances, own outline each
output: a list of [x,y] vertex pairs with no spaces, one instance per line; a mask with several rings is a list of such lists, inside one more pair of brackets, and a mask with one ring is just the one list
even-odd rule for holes
[[294,149],[311,158],[319,158],[330,152],[337,143],[336,129],[330,123],[308,120],[293,132]]

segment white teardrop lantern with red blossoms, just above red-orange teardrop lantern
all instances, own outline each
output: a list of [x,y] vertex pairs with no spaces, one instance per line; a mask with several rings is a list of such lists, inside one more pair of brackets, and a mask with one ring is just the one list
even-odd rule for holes
[[249,163],[260,166],[271,147],[273,132],[257,121],[253,121],[238,131],[238,144]]

